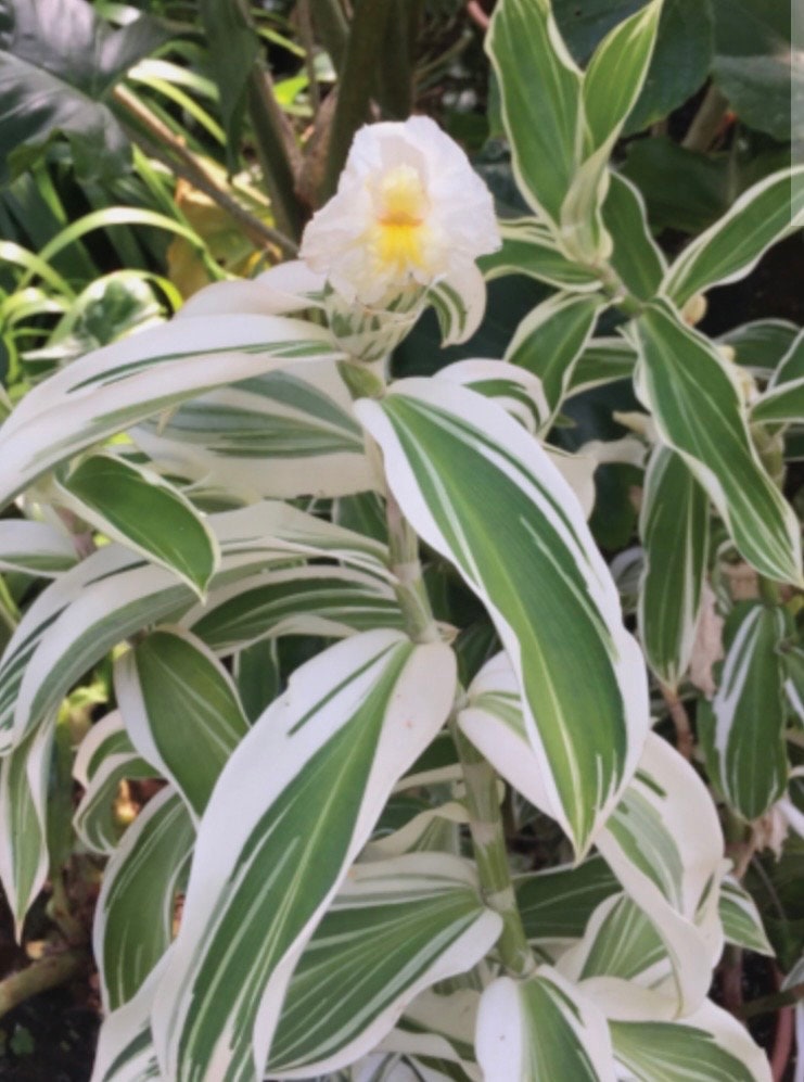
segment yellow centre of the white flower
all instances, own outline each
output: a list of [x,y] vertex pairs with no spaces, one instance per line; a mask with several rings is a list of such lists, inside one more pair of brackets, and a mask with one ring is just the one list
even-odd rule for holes
[[405,271],[423,268],[429,201],[421,177],[410,165],[397,165],[374,189],[374,244],[381,265]]

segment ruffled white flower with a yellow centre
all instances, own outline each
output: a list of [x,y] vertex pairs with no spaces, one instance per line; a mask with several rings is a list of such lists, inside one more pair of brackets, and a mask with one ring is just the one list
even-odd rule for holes
[[347,303],[382,306],[412,284],[465,281],[499,243],[492,196],[467,155],[414,116],[357,132],[301,255]]

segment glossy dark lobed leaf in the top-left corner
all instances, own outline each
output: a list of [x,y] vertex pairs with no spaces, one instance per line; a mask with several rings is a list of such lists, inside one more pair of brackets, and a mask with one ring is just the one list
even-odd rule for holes
[[168,38],[140,15],[119,29],[84,0],[3,0],[0,5],[0,180],[65,135],[84,178],[113,179],[128,140],[109,105],[114,85]]

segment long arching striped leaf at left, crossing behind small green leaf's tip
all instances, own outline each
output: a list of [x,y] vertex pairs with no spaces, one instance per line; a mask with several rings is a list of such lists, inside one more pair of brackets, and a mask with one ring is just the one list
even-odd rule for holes
[[[266,501],[209,517],[221,547],[210,589],[289,555],[328,557],[387,578],[383,545],[286,504]],[[9,749],[113,646],[195,600],[175,575],[107,545],[52,583],[30,606],[0,659],[0,753]]]

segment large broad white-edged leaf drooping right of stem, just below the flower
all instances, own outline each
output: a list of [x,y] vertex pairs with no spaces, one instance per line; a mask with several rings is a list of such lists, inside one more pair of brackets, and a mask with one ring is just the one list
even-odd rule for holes
[[[546,810],[583,854],[649,722],[641,654],[575,496],[516,421],[462,387],[405,380],[356,410],[404,514],[488,608],[524,688]],[[567,650],[584,658],[583,685]]]

